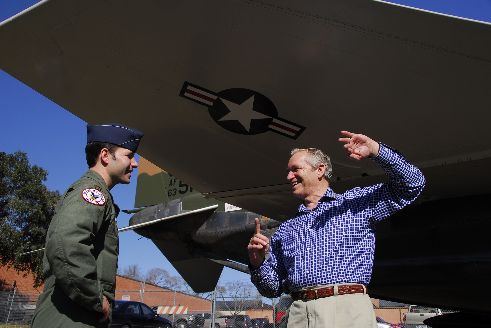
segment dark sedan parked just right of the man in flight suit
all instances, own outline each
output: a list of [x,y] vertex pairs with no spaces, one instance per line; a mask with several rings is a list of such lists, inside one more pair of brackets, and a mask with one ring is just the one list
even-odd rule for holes
[[116,301],[112,310],[112,328],[172,328],[172,323],[161,318],[148,305],[133,301]]

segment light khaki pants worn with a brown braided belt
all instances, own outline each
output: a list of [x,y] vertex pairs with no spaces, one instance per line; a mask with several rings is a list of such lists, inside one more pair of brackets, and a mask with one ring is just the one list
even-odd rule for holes
[[295,301],[286,316],[287,328],[377,328],[372,301],[361,293]]

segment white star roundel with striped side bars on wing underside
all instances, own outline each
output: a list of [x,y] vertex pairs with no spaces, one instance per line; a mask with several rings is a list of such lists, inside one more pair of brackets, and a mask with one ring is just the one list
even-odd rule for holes
[[272,131],[297,139],[305,130],[299,124],[278,117],[273,102],[253,90],[234,88],[215,93],[184,82],[179,95],[208,107],[213,120],[231,132],[255,135]]

